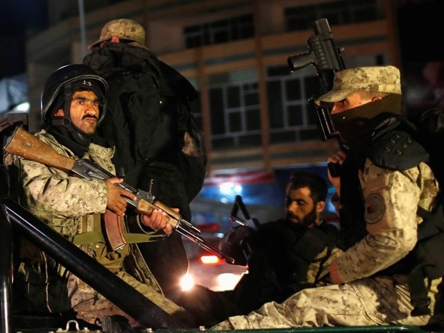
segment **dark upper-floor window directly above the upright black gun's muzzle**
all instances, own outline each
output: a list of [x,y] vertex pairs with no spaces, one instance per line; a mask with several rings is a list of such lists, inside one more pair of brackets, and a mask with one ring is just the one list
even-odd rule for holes
[[341,0],[284,10],[287,31],[311,28],[313,21],[327,17],[329,24],[368,22],[383,17],[377,0]]

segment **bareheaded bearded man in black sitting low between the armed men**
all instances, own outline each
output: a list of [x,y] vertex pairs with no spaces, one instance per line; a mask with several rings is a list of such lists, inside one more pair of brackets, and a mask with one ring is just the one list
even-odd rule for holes
[[321,217],[327,182],[316,173],[291,174],[285,191],[285,218],[233,228],[222,240],[224,253],[248,265],[226,295],[248,314],[266,302],[282,302],[296,291],[328,282],[328,266],[340,252],[339,230]]

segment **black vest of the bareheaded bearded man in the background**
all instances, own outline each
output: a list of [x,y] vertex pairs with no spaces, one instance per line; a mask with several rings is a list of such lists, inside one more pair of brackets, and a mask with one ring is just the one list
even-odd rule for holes
[[250,252],[248,274],[234,288],[234,298],[245,313],[265,302],[282,302],[297,291],[313,287],[307,281],[309,265],[327,248],[325,257],[319,259],[317,280],[323,261],[336,246],[339,232],[334,225],[323,222],[315,228],[292,230],[282,224],[286,222],[291,223],[278,220],[259,225],[259,232],[253,232],[242,243],[244,252]]

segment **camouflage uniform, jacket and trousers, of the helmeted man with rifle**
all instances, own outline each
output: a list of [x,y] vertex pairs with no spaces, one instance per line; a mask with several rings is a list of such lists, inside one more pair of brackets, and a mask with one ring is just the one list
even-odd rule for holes
[[[56,142],[56,139],[44,130],[38,133],[37,137],[61,155],[74,157],[69,149]],[[89,152],[85,153],[83,158],[89,158],[115,174],[110,160],[113,153],[112,148],[90,144]],[[53,230],[68,237],[75,244],[80,243],[79,247],[88,255],[116,273],[119,278],[135,287],[164,311],[184,323],[187,322],[188,316],[185,310],[163,296],[137,245],[126,245],[116,251],[107,249],[100,223],[100,216],[105,212],[108,200],[108,188],[103,180],[85,180],[68,176],[64,171],[21,158],[15,159],[15,164],[19,167],[19,182],[24,189],[21,198],[24,207]],[[123,219],[121,221],[123,223]],[[76,241],[78,235],[86,237],[91,243],[82,244]],[[94,323],[96,318],[113,314],[128,317],[85,282],[67,272],[44,253],[37,251],[31,244],[27,244],[21,250],[21,262],[16,279],[24,281],[24,289],[29,292],[26,294],[26,291],[22,291],[28,309],[67,311],[66,302],[60,301],[67,298],[68,305],[77,311],[78,318],[89,323]],[[56,281],[59,282],[59,288],[53,291],[51,288],[55,284],[52,282]],[[61,281],[65,283],[63,288],[60,288]],[[32,289],[35,284],[42,284],[39,291]],[[132,325],[137,324],[133,318],[128,319]]]

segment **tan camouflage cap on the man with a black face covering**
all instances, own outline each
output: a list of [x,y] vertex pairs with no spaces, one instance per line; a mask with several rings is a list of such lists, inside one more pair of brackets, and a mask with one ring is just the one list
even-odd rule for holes
[[359,91],[401,94],[400,70],[393,66],[377,66],[336,71],[332,90],[318,97],[316,104],[341,101]]

